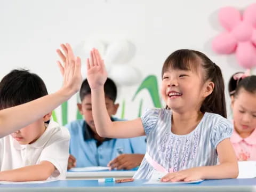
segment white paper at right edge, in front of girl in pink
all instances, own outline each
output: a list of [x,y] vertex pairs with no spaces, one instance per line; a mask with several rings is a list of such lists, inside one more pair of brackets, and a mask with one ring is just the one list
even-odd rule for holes
[[238,179],[249,179],[256,177],[256,161],[238,162]]

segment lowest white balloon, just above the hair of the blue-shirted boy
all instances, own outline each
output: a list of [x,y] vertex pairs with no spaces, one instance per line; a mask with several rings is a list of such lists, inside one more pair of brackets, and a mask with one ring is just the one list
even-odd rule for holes
[[130,86],[141,81],[140,71],[129,65],[113,66],[109,73],[109,77],[120,86]]

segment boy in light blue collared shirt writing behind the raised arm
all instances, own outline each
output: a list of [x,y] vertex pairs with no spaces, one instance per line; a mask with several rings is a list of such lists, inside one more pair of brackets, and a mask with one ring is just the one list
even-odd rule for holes
[[[112,121],[122,121],[112,117],[116,114],[119,104],[115,104],[117,88],[108,78],[105,85],[105,101]],[[70,156],[68,169],[71,167],[109,166],[110,169],[133,169],[140,165],[146,153],[146,138],[129,139],[102,138],[95,129],[92,116],[91,89],[87,79],[80,90],[82,103],[77,107],[84,119],[67,124],[70,132]]]

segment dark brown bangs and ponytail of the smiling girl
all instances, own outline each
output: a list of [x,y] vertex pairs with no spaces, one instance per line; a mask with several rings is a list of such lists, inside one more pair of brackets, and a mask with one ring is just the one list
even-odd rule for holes
[[227,117],[225,101],[225,85],[221,74],[221,69],[212,62],[205,54],[195,51],[182,49],[173,52],[164,62],[162,68],[162,78],[166,70],[195,70],[198,71],[199,63],[204,69],[204,81],[214,83],[213,92],[208,95],[202,103],[200,111],[210,112]]

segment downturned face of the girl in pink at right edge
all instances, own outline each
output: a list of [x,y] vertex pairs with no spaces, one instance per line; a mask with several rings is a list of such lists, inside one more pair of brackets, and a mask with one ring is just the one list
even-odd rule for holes
[[249,136],[256,128],[256,93],[250,93],[242,88],[232,99],[231,107],[236,131],[239,134],[247,133]]

